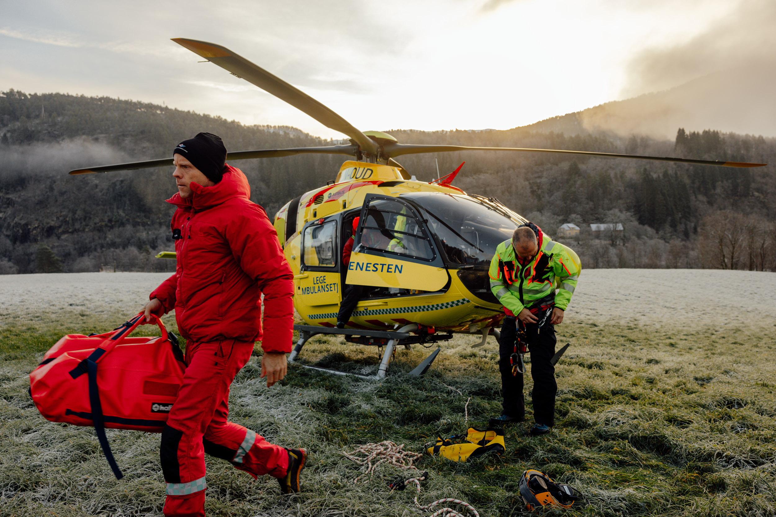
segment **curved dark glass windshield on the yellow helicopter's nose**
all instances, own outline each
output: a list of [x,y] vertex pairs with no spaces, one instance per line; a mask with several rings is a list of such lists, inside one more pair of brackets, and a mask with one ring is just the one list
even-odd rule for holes
[[511,239],[518,223],[461,195],[418,192],[402,195],[420,207],[450,264],[487,266],[496,246]]

